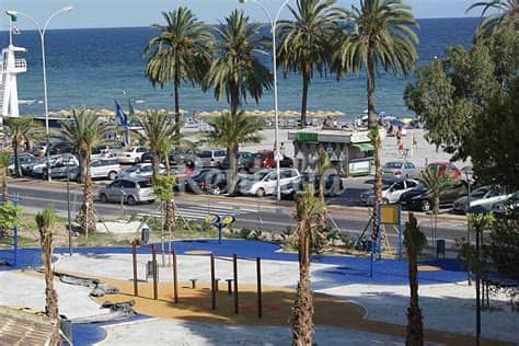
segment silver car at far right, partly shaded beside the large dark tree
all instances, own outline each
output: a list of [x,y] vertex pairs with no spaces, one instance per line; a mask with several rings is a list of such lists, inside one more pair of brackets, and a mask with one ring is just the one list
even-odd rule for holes
[[[465,214],[470,207],[480,206],[491,211],[495,203],[506,200],[511,194],[506,194],[499,186],[482,186],[474,189],[469,196],[460,197],[452,204],[452,211]],[[481,209],[480,209],[481,210]]]

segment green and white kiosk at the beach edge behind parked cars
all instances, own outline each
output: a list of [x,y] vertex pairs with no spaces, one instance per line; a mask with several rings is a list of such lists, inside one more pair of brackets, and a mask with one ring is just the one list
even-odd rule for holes
[[301,173],[313,173],[318,150],[323,147],[341,176],[369,175],[373,146],[367,130],[302,129],[288,132],[293,143],[293,166]]

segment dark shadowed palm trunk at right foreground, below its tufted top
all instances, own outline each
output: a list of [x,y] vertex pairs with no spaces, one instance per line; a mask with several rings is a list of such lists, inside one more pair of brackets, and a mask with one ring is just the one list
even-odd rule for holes
[[424,345],[424,331],[422,323],[422,311],[418,305],[417,254],[415,249],[410,249],[410,246],[407,246],[407,253],[410,257],[408,275],[411,299],[410,308],[407,309],[407,335],[405,345],[422,346]]

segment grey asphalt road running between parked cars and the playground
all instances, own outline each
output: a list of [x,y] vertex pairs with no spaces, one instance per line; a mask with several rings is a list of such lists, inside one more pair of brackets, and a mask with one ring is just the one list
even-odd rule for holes
[[[64,183],[47,183],[34,180],[15,181],[10,184],[10,193],[20,196],[21,204],[26,210],[39,210],[47,205],[54,205],[60,216],[67,215],[67,194]],[[82,189],[78,184],[71,184],[70,209],[72,217],[82,203]],[[341,198],[331,199],[328,215],[331,219],[344,232],[351,235],[360,234],[369,220],[367,208],[345,207],[337,204]],[[350,198],[347,198],[351,200]],[[293,220],[293,204],[282,201],[276,204],[267,198],[222,197],[203,196],[193,194],[178,194],[175,196],[176,212],[178,216],[189,220],[201,220],[208,214],[234,215],[235,226],[265,231],[281,232],[288,227],[296,227]],[[97,215],[105,219],[115,219],[124,215],[140,214],[160,216],[159,204],[143,204],[138,206],[120,206],[119,204],[103,204],[95,201]],[[431,240],[432,218],[431,216],[418,215],[422,231]],[[391,244],[396,243],[397,232],[392,227],[387,227],[387,234]],[[457,239],[465,237],[466,221],[462,218],[440,216],[438,220],[437,239],[445,239],[448,247],[451,247]]]

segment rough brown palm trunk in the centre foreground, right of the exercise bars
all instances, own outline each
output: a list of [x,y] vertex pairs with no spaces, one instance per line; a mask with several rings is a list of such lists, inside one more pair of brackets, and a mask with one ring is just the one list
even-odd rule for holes
[[292,309],[292,345],[312,345],[313,298],[310,282],[310,220],[299,222],[299,282]]

